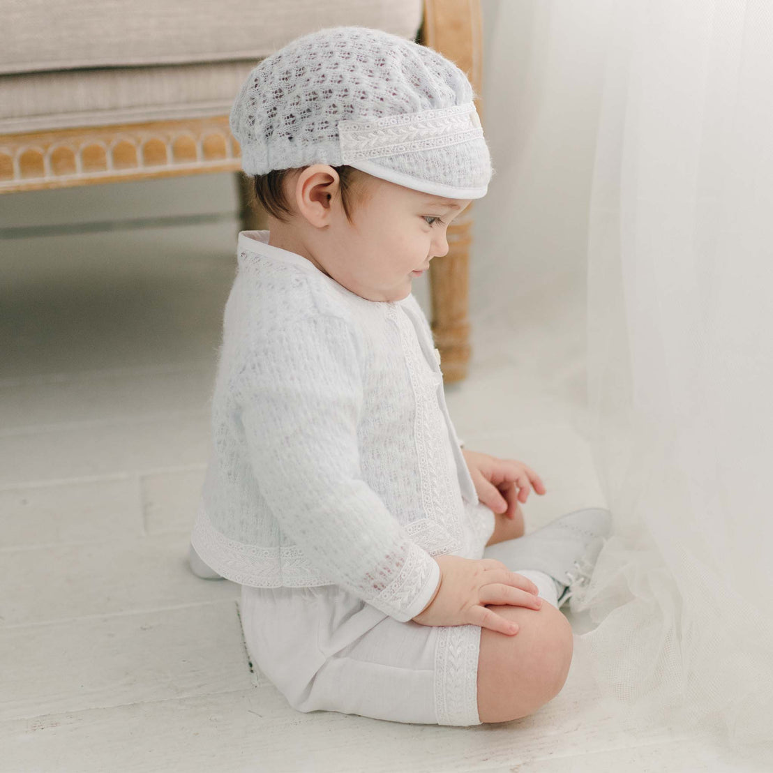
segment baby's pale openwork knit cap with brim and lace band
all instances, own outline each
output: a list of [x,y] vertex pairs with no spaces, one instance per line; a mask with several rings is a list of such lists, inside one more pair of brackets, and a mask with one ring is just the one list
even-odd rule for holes
[[233,102],[242,169],[349,165],[451,199],[485,196],[489,146],[462,70],[380,29],[329,27],[267,56]]

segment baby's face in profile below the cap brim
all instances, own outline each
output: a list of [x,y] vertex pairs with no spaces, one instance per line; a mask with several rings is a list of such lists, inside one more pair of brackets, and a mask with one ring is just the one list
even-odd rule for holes
[[[301,252],[339,284],[370,301],[407,298],[419,271],[448,253],[446,230],[472,199],[444,199],[380,178],[369,179],[365,203],[342,209],[303,240]],[[281,234],[270,243],[284,246]]]

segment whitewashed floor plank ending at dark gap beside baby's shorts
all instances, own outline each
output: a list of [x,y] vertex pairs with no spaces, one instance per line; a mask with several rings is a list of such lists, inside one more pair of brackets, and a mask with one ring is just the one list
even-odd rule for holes
[[247,690],[234,601],[0,628],[0,719]]

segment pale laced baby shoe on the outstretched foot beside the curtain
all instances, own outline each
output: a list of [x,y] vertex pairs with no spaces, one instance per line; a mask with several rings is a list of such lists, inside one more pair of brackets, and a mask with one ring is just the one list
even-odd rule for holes
[[611,526],[611,512],[592,507],[568,512],[541,529],[492,547],[502,545],[507,557],[503,563],[509,567],[536,569],[553,577],[557,607],[571,600],[570,609],[577,611]]

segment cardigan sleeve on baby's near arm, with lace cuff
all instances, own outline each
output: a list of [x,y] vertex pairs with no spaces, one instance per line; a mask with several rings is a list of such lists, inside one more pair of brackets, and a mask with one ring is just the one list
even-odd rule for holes
[[346,321],[319,315],[272,329],[240,370],[239,390],[252,472],[281,530],[386,615],[421,612],[440,567],[363,480],[363,380]]

